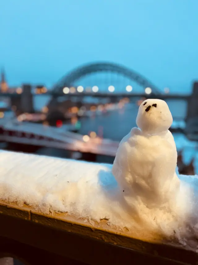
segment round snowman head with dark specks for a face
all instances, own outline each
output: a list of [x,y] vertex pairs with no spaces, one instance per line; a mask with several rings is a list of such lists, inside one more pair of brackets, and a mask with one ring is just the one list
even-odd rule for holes
[[173,117],[164,100],[146,99],[139,107],[136,124],[146,134],[163,133],[172,122]]

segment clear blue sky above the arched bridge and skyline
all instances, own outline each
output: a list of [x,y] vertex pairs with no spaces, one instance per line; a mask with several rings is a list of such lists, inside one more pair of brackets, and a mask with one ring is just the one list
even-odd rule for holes
[[197,0],[0,1],[0,66],[10,85],[50,86],[81,64],[125,65],[157,87],[198,80]]

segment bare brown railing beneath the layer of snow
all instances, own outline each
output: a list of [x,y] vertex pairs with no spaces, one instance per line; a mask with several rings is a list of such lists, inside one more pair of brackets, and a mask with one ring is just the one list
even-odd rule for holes
[[198,264],[195,252],[153,244],[65,214],[0,203],[0,256],[25,264]]

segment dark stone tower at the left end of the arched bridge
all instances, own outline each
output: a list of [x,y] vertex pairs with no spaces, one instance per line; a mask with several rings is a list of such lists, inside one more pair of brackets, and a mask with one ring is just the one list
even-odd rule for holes
[[23,93],[21,94],[21,110],[23,112],[32,113],[33,109],[33,97],[32,97],[32,87],[31,85],[22,85]]

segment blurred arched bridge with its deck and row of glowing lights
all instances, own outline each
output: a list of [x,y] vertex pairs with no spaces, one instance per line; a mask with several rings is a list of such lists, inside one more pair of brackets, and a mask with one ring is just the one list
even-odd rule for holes
[[[98,76],[99,74],[99,76]],[[99,77],[99,78],[98,78]],[[89,80],[86,80],[89,78]],[[190,98],[189,95],[164,94],[151,81],[144,76],[120,66],[115,63],[98,62],[80,66],[63,76],[49,90],[45,86],[39,86],[41,94],[50,95],[52,98],[64,96],[66,98],[91,96],[97,98],[110,98],[116,102],[118,98],[140,98],[153,97],[161,99],[185,99]],[[15,92],[0,93],[0,96],[9,98],[29,98],[22,100],[31,105],[31,96],[35,94],[37,86],[24,85],[22,88],[16,89]],[[24,105],[24,104],[22,104]]]

